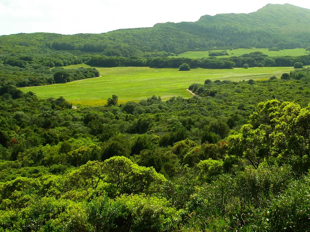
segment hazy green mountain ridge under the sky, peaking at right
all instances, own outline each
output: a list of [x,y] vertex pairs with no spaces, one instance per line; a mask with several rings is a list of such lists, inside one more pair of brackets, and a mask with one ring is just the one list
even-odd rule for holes
[[15,34],[0,37],[0,54],[95,52],[108,56],[165,56],[186,50],[241,48],[290,49],[310,45],[310,10],[268,4],[249,14],[204,15],[197,22],[161,23],[152,28],[102,34]]

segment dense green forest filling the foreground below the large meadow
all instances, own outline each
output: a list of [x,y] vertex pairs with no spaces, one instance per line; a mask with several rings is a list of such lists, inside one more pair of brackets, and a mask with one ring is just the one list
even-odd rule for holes
[[0,230],[308,230],[310,71],[288,75],[77,109],[1,87]]

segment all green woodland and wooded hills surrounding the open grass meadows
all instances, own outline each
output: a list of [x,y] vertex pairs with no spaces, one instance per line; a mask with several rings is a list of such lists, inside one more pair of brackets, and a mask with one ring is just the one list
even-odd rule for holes
[[[0,232],[310,230],[310,55],[178,56],[307,51],[305,22],[308,9],[268,4],[98,35],[0,36]],[[82,63],[92,67],[64,68]],[[111,93],[100,106],[19,89],[119,66],[292,71],[206,79],[187,87],[195,96],[167,101],[119,104]]]

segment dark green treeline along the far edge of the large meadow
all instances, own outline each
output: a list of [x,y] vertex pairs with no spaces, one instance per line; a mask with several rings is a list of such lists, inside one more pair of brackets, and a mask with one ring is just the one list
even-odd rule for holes
[[108,57],[93,56],[86,64],[94,67],[157,67],[157,68],[179,68],[182,63],[187,63],[190,68],[209,69],[231,69],[233,67],[294,67],[294,63],[301,62],[303,65],[310,65],[310,55],[298,57],[268,57],[262,52],[252,52],[239,57],[229,58],[184,58],[184,57]]

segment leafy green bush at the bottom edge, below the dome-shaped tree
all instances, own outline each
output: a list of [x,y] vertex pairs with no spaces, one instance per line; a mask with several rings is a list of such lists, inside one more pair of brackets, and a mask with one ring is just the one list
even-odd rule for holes
[[167,200],[144,195],[122,195],[116,200],[96,198],[87,211],[95,231],[173,231],[181,222],[180,213]]

